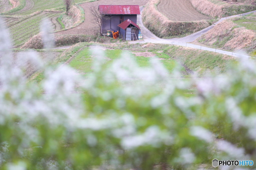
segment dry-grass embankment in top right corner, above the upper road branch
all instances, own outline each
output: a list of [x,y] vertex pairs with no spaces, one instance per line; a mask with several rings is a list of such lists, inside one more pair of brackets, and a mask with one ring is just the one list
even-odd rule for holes
[[256,4],[252,0],[238,0],[239,4],[230,4],[220,0],[190,0],[190,2],[200,13],[213,18],[243,14],[256,10]]

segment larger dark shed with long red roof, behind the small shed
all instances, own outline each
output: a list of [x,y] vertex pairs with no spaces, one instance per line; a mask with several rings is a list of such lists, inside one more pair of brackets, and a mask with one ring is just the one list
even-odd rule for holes
[[128,19],[137,25],[140,8],[138,5],[99,5],[99,12],[104,15],[101,32],[106,33],[107,30],[121,31],[118,25]]

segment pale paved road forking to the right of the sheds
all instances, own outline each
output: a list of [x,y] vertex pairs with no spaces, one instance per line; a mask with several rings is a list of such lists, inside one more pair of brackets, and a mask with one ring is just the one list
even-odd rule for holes
[[[142,13],[143,7],[140,7],[140,11]],[[158,38],[156,35],[154,35],[150,30],[148,30],[146,27],[144,27],[143,23],[142,23],[142,19],[141,19],[141,15],[138,15],[138,19],[137,19],[137,23],[138,26],[141,28],[141,33],[143,36],[143,41],[131,41],[129,43],[146,43],[146,42],[150,42],[150,43],[161,43],[161,44],[174,44],[174,45],[180,45],[180,46],[186,46],[186,47],[191,47],[191,48],[197,48],[197,49],[201,49],[201,50],[207,50],[207,51],[213,51],[216,53],[221,53],[221,54],[227,54],[230,56],[234,56],[234,57],[250,57],[246,54],[239,54],[236,52],[228,52],[228,51],[224,51],[224,50],[216,50],[215,48],[208,48],[208,47],[204,47],[204,46],[200,46],[200,45],[195,45],[195,44],[190,44],[188,42],[192,42],[194,40],[196,40],[198,37],[200,37],[202,34],[206,33],[207,31],[209,31],[210,29],[212,29],[216,24],[220,23],[221,21],[228,19],[228,18],[232,18],[232,17],[238,17],[238,16],[243,16],[243,15],[248,15],[251,13],[254,13],[256,11],[252,11],[252,12],[248,12],[245,14],[240,14],[240,15],[233,15],[230,17],[224,17],[221,18],[218,22],[216,22],[215,24],[201,30],[198,31],[194,34],[191,34],[187,37],[183,37],[183,38],[172,38],[172,39],[161,39]]]

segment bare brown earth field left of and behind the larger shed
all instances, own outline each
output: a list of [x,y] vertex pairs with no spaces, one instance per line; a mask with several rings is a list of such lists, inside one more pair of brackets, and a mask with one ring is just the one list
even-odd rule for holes
[[144,6],[149,0],[99,0],[94,2],[87,2],[80,4],[80,6],[84,9],[85,13],[85,19],[84,22],[81,23],[79,26],[75,28],[71,28],[66,31],[60,31],[55,34],[66,34],[66,35],[72,35],[72,34],[86,34],[86,35],[94,35],[95,32],[97,32],[97,28],[94,26],[93,23],[91,23],[91,20],[93,18],[92,14],[90,13],[90,6],[92,5],[139,5]]

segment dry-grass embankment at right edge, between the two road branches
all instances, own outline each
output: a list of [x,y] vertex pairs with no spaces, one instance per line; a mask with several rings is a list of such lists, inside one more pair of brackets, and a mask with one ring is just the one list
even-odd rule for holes
[[226,50],[243,50],[248,53],[256,47],[256,14],[231,18],[220,22],[196,41]]

